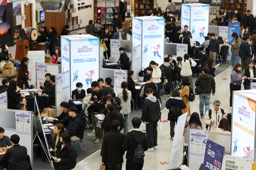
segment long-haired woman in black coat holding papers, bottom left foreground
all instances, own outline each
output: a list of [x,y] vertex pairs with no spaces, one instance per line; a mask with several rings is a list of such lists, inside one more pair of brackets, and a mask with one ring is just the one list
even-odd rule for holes
[[56,162],[56,170],[72,170],[76,166],[76,151],[70,142],[70,135],[62,133],[60,135],[60,143],[56,145],[56,154],[54,160]]

